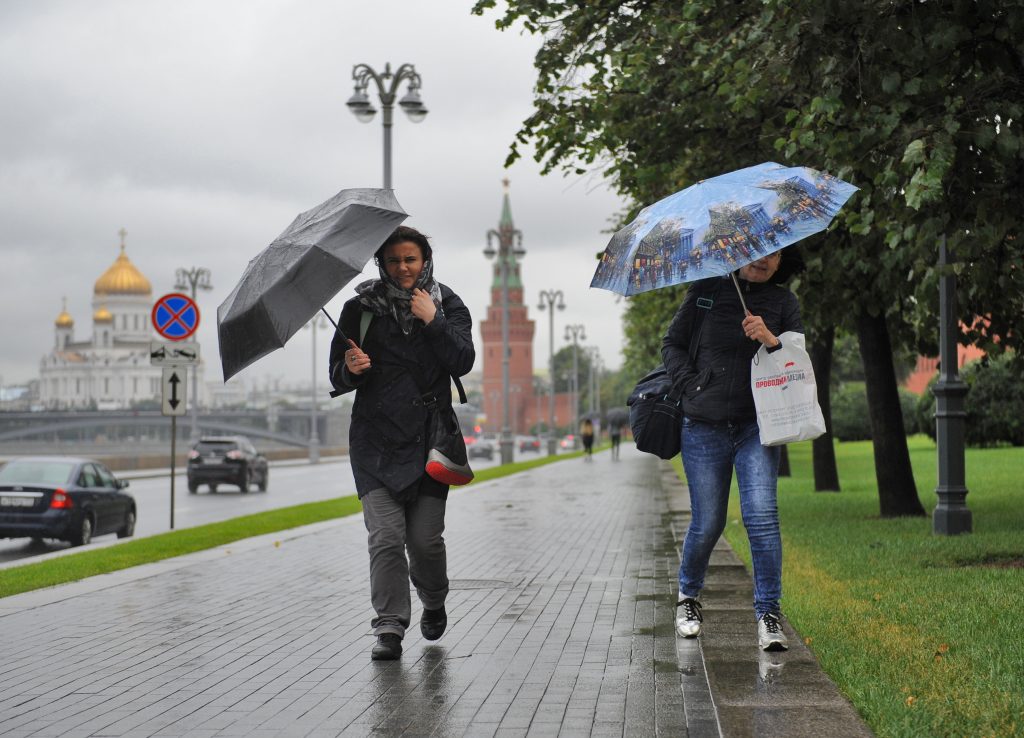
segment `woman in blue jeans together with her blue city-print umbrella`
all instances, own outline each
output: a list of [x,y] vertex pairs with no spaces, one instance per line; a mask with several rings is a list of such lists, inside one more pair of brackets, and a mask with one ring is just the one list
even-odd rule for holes
[[642,210],[608,243],[592,287],[623,295],[693,283],[662,343],[681,388],[683,468],[691,519],[679,567],[676,632],[700,635],[700,592],[725,530],[733,470],[754,564],[758,645],[784,651],[779,448],[761,443],[751,360],[804,332],[781,284],[803,262],[792,248],[825,229],[856,187],[806,167],[766,163],[696,184]]

